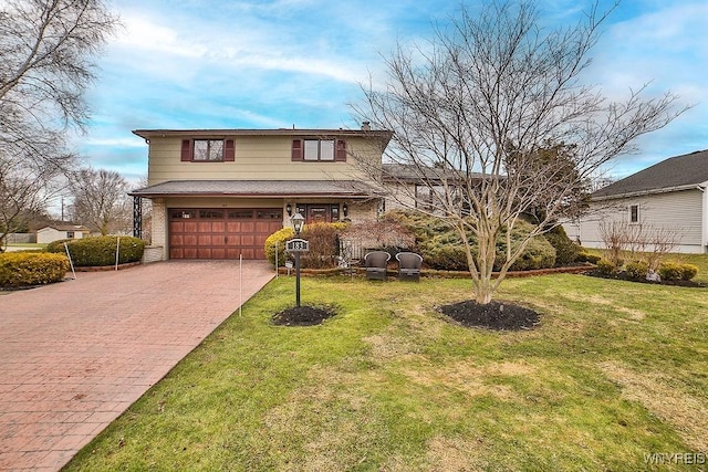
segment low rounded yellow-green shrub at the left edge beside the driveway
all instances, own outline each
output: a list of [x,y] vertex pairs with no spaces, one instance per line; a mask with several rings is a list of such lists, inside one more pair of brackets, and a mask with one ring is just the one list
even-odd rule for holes
[[28,286],[60,282],[69,271],[69,259],[62,254],[0,254],[0,286]]

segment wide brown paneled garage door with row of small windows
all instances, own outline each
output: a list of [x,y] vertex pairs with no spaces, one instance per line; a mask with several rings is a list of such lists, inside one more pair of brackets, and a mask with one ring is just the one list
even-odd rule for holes
[[266,259],[266,238],[281,229],[280,209],[171,209],[170,259]]

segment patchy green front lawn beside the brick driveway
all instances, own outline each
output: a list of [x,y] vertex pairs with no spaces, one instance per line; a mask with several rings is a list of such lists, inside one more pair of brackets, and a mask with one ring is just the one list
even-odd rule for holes
[[469,281],[305,279],[321,326],[277,327],[271,282],[66,468],[606,471],[706,452],[708,290],[582,275],[509,280],[533,331],[466,328],[435,306]]

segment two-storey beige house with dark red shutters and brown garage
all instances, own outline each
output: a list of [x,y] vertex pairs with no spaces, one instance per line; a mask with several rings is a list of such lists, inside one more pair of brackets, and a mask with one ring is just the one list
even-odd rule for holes
[[167,259],[264,259],[291,225],[375,218],[381,200],[357,161],[381,165],[391,132],[137,129],[148,144],[152,243]]

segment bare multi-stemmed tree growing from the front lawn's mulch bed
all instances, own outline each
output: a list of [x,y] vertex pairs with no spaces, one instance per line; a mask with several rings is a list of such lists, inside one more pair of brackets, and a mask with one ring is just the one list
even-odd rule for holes
[[[494,1],[475,15],[462,7],[425,46],[398,45],[385,59],[386,86],[365,86],[366,99],[355,106],[360,119],[395,133],[386,159],[414,169],[436,195],[427,211],[459,233],[479,303],[491,301],[511,264],[568,211],[584,181],[683,112],[674,111],[671,94],[644,99],[641,87],[611,102],[584,84],[607,14],[595,7],[575,27],[545,30],[533,2]],[[572,153],[539,159],[549,144]],[[368,168],[382,183],[395,180],[385,169]],[[416,196],[400,188],[381,186],[415,207]],[[539,225],[522,241],[507,241],[493,279],[497,240],[510,238],[532,209],[542,214]]]

